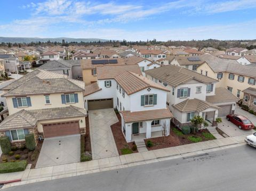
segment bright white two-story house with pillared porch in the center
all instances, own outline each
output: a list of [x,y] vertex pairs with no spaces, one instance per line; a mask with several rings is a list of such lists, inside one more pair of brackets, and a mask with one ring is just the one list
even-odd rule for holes
[[88,110],[116,108],[122,118],[126,142],[138,134],[150,138],[155,132],[170,134],[172,113],[166,108],[168,89],[143,77],[138,65],[97,67],[97,82],[85,87]]

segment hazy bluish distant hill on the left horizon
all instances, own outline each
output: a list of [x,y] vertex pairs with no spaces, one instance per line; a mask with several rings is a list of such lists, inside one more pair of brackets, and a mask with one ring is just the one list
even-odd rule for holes
[[0,43],[31,43],[31,42],[36,42],[36,41],[41,41],[41,43],[46,43],[48,40],[51,42],[57,41],[58,43],[62,43],[62,39],[70,43],[70,41],[76,41],[80,43],[81,41],[85,43],[90,43],[93,41],[101,41],[105,42],[108,41],[106,39],[100,39],[100,38],[66,38],[66,37],[61,37],[61,38],[26,38],[26,37],[0,37]]

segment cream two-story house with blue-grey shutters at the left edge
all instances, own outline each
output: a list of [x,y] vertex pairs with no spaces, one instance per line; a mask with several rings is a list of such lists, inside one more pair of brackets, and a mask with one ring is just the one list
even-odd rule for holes
[[84,134],[84,82],[66,75],[36,69],[2,88],[9,117],[0,123],[0,136],[16,146],[25,135],[38,137]]

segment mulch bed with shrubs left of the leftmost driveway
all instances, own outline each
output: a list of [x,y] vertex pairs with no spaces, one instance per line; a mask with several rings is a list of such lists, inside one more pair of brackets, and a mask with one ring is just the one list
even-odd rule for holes
[[[34,151],[28,151],[27,148],[22,149],[22,148],[16,148],[16,149],[12,149],[13,151],[13,155],[4,155],[2,154],[0,162],[2,162],[2,157],[5,156],[7,157],[8,161],[7,162],[14,162],[17,161],[17,159],[15,159],[15,155],[19,154],[20,155],[20,160],[27,160],[28,164],[31,164],[31,169],[34,169],[36,167],[36,162],[39,156],[39,153],[41,151],[43,145],[43,140],[39,141],[36,145],[36,148]],[[16,150],[16,151],[15,151]]]

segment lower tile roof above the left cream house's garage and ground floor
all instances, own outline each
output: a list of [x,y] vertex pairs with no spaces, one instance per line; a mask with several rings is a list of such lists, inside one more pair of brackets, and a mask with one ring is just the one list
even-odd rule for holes
[[38,110],[21,110],[4,119],[0,123],[0,130],[30,128],[35,127],[39,120],[75,118],[86,114],[86,110],[71,105]]

